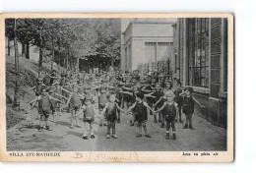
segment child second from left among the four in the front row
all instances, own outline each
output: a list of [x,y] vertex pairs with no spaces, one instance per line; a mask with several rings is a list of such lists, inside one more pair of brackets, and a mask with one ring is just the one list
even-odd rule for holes
[[116,112],[117,109],[124,112],[123,109],[121,109],[118,104],[115,102],[115,94],[114,92],[110,92],[108,95],[108,102],[105,104],[101,116],[105,113],[106,120],[107,120],[107,133],[106,133],[106,139],[110,138],[110,130],[112,129],[112,137],[114,139],[117,139],[117,136],[115,135],[115,123],[116,123]]

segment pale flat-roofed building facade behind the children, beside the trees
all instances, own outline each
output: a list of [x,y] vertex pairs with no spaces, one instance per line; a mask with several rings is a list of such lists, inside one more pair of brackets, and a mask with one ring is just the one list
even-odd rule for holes
[[136,70],[142,64],[170,58],[176,19],[122,19],[121,69]]

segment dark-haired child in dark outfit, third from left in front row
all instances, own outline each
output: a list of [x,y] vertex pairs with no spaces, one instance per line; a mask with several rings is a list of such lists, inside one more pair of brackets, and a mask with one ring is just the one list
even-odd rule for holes
[[136,93],[136,102],[126,111],[126,113],[133,110],[135,112],[135,119],[138,121],[139,134],[136,136],[137,138],[142,137],[142,126],[144,128],[145,137],[152,138],[150,134],[147,133],[146,122],[148,120],[148,109],[151,111],[152,108],[143,101],[144,94],[142,92]]

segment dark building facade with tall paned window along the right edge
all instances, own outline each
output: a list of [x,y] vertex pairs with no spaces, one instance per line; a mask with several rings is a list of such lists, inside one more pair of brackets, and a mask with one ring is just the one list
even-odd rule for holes
[[226,127],[227,19],[178,19],[173,35],[173,82],[193,87],[205,118]]

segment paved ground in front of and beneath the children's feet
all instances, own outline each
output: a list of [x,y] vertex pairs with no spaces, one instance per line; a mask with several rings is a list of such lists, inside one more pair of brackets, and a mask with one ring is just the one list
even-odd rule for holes
[[[39,115],[33,109],[28,118],[7,131],[8,151],[211,151],[226,149],[226,130],[215,126],[202,118],[196,109],[193,116],[195,130],[182,129],[183,123],[176,123],[175,141],[165,140],[165,128],[154,123],[149,116],[147,129],[152,136],[136,138],[138,127],[129,125],[130,116],[121,114],[121,123],[116,124],[118,139],[106,139],[106,127],[98,126],[96,119],[93,127],[95,139],[83,140],[82,117],[79,118],[82,128],[70,129],[70,114],[64,112],[57,116],[57,122],[50,122],[52,131],[38,132]],[[182,115],[182,119],[185,117]]]

